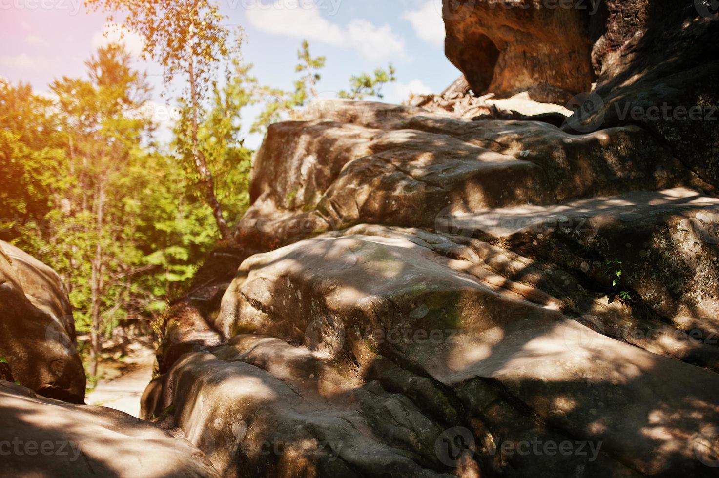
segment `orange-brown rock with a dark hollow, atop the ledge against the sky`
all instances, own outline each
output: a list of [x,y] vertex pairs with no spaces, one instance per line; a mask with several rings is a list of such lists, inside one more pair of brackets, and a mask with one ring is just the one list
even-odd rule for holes
[[[475,95],[539,87],[537,93],[546,98],[538,101],[564,104],[572,94],[590,90],[590,2],[585,8],[546,8],[544,3],[444,0],[445,54]],[[547,96],[546,88],[542,94],[545,85],[564,94]]]

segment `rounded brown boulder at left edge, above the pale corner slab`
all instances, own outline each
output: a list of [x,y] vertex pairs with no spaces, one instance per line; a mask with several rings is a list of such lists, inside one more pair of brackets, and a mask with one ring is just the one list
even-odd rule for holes
[[0,242],[2,377],[40,395],[84,403],[85,372],[75,349],[75,322],[57,273]]

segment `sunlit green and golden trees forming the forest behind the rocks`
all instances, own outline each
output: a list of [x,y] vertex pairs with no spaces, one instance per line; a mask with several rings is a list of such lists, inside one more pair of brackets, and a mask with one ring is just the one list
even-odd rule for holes
[[[166,83],[191,73],[175,96],[180,114],[169,148],[156,140],[146,75],[121,45],[99,49],[85,75],[58,78],[50,95],[0,78],[0,239],[62,278],[78,334],[87,338],[78,348],[91,382],[103,342],[130,325],[150,333],[204,257],[230,240],[249,207],[252,151],[242,132],[292,119],[317,96],[326,58],[313,58],[308,42],[298,50],[293,91],[283,91],[261,85],[241,62],[242,32],[219,28],[235,46],[208,53],[203,42],[216,42],[218,31],[203,38],[190,29],[200,38],[178,57],[182,68],[146,36],[147,58],[160,58],[172,73]],[[203,55],[211,60],[198,62]],[[336,96],[381,98],[391,81],[389,65],[352,76]],[[243,109],[255,104],[261,113],[244,119]]]

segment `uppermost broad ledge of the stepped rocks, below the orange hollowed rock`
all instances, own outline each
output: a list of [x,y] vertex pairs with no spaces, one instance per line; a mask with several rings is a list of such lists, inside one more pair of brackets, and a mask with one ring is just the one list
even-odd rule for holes
[[576,136],[337,100],[304,118],[272,125],[257,152],[238,231],[255,252],[362,222],[433,227],[444,213],[705,185],[633,126]]

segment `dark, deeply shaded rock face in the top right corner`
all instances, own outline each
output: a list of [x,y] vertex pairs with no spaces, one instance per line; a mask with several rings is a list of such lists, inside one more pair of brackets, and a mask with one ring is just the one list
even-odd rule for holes
[[582,109],[565,129],[641,125],[719,187],[719,50],[713,46],[719,17],[699,1],[686,8],[686,1],[679,8],[675,2],[648,2],[646,12],[631,6],[647,2],[625,3],[624,18],[646,16],[642,28],[605,55],[595,90],[582,96]]

